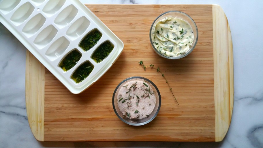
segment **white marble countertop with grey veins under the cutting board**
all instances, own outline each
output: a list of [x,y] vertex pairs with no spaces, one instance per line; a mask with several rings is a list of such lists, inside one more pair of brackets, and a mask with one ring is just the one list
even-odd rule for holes
[[29,128],[25,107],[25,57],[27,49],[0,23],[0,148],[263,147],[263,1],[81,1],[94,4],[219,4],[228,18],[234,55],[234,109],[225,139],[219,143],[38,142]]

